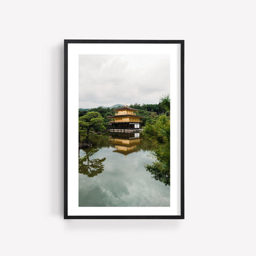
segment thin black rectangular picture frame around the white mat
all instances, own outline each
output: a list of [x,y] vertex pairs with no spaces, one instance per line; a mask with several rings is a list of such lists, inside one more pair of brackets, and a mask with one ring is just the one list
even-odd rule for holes
[[[68,215],[68,44],[180,44],[180,215]],[[64,40],[64,218],[65,219],[184,219],[184,86],[185,82],[185,41],[184,40]]]

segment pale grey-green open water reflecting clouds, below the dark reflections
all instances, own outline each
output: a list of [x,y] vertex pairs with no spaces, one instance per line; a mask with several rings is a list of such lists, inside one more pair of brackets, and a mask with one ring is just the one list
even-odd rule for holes
[[90,158],[106,158],[101,174],[79,174],[79,206],[169,207],[170,187],[152,178],[144,167],[152,163],[149,152],[124,157],[113,150],[102,148]]

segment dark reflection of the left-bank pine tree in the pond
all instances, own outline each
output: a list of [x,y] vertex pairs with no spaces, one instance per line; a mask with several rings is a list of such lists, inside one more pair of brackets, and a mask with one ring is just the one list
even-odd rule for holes
[[79,174],[87,175],[88,177],[94,177],[101,174],[104,170],[103,162],[106,158],[95,158],[90,160],[89,157],[98,151],[96,148],[82,149],[85,156],[79,157]]

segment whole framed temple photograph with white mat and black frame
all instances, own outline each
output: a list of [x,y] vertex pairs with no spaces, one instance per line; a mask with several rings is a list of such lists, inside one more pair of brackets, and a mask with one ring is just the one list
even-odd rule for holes
[[64,45],[64,218],[184,218],[184,41]]

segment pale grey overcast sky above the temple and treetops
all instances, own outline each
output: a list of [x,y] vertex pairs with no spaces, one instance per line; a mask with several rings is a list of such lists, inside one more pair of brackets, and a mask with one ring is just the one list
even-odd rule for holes
[[79,55],[79,108],[156,104],[169,92],[169,55]]

